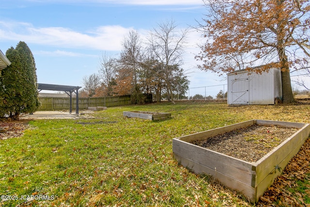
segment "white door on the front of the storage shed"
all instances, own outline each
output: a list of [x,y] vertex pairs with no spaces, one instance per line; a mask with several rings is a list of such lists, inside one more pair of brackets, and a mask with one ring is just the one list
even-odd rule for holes
[[248,104],[248,78],[232,80],[232,104]]

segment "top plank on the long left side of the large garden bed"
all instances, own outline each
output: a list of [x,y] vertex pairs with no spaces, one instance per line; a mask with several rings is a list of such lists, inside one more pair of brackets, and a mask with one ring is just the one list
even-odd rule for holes
[[[177,138],[172,140],[172,151],[186,159],[209,167],[214,172],[220,172],[251,185],[253,172],[252,164],[249,162],[217,153],[195,144],[186,143]],[[212,173],[214,173],[213,171]]]

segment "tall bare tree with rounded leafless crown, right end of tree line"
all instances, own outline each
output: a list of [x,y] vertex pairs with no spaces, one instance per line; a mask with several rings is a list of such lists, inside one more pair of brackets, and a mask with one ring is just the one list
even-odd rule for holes
[[184,47],[186,44],[186,34],[188,29],[182,31],[177,30],[177,25],[173,20],[163,22],[157,25],[157,28],[153,28],[148,37],[148,48],[153,56],[160,62],[163,73],[162,79],[167,86],[167,98],[168,101],[174,103],[171,78],[173,77],[172,65],[182,64],[182,55],[184,53]]

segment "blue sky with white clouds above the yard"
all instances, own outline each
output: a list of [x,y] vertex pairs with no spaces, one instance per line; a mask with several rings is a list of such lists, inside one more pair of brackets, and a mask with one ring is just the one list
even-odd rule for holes
[[[205,12],[202,0],[1,0],[0,50],[5,54],[23,41],[34,56],[39,83],[83,86],[83,77],[98,73],[104,53],[118,57],[128,32],[145,39],[171,19],[180,30],[194,28]],[[227,91],[226,75],[197,68],[194,57],[202,41],[200,32],[188,33],[181,67],[190,96],[216,96]]]

